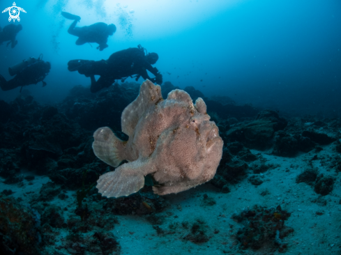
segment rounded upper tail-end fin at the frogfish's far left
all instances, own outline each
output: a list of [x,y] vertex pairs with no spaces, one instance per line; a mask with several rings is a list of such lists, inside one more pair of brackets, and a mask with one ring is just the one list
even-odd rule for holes
[[93,153],[103,162],[118,167],[125,160],[126,142],[117,138],[109,127],[100,127],[93,133]]

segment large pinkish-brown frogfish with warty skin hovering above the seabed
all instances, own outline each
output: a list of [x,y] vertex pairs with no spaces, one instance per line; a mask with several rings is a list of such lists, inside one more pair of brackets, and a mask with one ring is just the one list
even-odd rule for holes
[[114,137],[108,127],[94,134],[93,150],[101,160],[114,167],[128,160],[100,176],[98,190],[104,196],[125,196],[143,187],[143,176],[149,173],[159,184],[153,187],[159,195],[211,180],[222,157],[223,142],[218,127],[209,119],[202,98],[193,105],[190,95],[177,89],[163,100],[160,86],[146,80],[121,116],[128,141]]

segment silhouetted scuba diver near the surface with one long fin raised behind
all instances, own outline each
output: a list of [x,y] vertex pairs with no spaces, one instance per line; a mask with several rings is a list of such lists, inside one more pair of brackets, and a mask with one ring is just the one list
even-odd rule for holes
[[103,22],[98,22],[91,26],[76,27],[77,22],[80,20],[79,16],[66,12],[61,12],[61,15],[68,20],[75,20],[73,24],[70,25],[68,33],[78,37],[76,45],[84,45],[86,42],[97,42],[98,47],[96,49],[103,51],[103,49],[108,47],[108,37],[116,32],[116,26],[114,24],[107,25]]

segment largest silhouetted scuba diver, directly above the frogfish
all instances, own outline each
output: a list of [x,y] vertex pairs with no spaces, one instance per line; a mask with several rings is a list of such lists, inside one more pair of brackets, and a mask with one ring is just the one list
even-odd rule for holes
[[[102,88],[111,86],[116,79],[121,79],[124,82],[128,77],[135,76],[135,81],[142,77],[150,79],[151,82],[162,84],[162,75],[157,68],[151,65],[158,61],[158,54],[151,52],[145,54],[145,49],[138,45],[137,48],[123,49],[119,52],[114,52],[109,59],[101,61],[90,61],[75,59],[68,62],[68,70],[70,72],[78,71],[79,74],[91,78],[91,92],[96,93]],[[150,78],[149,70],[155,78]],[[100,75],[98,81],[95,75]]]

